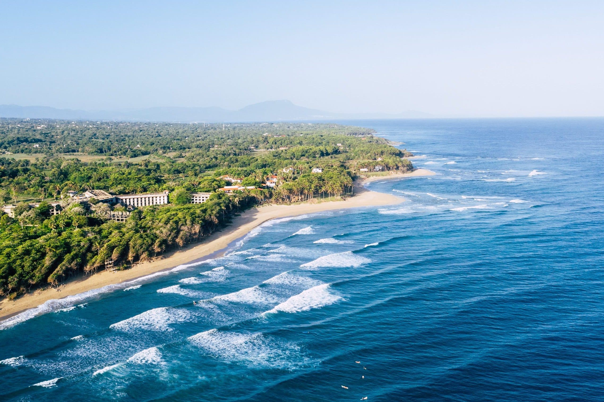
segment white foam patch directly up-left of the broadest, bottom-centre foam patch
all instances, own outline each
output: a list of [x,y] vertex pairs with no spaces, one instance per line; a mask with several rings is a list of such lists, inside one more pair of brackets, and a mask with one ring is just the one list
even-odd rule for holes
[[121,331],[133,329],[151,331],[172,331],[170,324],[190,321],[191,314],[184,308],[158,307],[109,325],[109,328]]

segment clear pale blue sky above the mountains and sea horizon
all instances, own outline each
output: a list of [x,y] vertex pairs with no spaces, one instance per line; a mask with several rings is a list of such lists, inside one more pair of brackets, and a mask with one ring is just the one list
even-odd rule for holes
[[604,115],[604,1],[0,1],[0,16],[0,103]]

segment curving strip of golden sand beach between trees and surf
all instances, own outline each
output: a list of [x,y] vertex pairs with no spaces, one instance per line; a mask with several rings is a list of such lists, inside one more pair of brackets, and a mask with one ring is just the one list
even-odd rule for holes
[[249,209],[248,211],[243,212],[239,217],[233,219],[231,225],[221,231],[214,232],[201,243],[190,244],[175,252],[166,253],[161,259],[136,264],[132,268],[123,271],[103,271],[91,276],[82,275],[79,278],[66,282],[58,289],[52,287],[39,289],[21,296],[18,299],[14,299],[13,301],[4,299],[0,301],[0,320],[7,319],[21,311],[37,307],[44,302],[53,299],[62,299],[67,296],[88,292],[89,290],[98,289],[110,284],[118,284],[120,282],[140,278],[141,276],[172,269],[181,264],[187,264],[191,261],[207,257],[208,255],[225,251],[226,247],[233,243],[233,241],[242,238],[255,227],[262,225],[263,222],[271,219],[312,214],[322,211],[358,208],[362,206],[394,205],[403,202],[404,199],[401,197],[369,191],[366,190],[363,185],[364,183],[376,180],[430,176],[432,174],[434,174],[434,172],[430,170],[417,169],[411,173],[393,173],[373,176],[356,182],[354,196],[348,197],[347,199],[329,202],[300,203],[295,205],[264,205],[259,208]]

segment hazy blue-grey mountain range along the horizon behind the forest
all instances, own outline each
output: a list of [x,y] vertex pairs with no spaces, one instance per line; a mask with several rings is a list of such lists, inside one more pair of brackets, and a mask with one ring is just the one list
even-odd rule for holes
[[48,106],[0,105],[0,117],[47,118],[61,120],[119,120],[167,121],[191,123],[219,121],[294,121],[294,120],[353,120],[430,118],[429,113],[408,110],[398,114],[388,113],[332,113],[297,106],[288,100],[266,101],[251,104],[239,110],[222,107],[149,107],[129,110],[74,110]]

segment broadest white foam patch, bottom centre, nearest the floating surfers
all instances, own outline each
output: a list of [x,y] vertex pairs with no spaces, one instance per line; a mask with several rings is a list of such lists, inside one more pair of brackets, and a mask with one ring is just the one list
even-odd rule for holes
[[243,362],[271,368],[291,368],[300,363],[296,361],[301,357],[297,345],[278,342],[262,333],[245,334],[213,329],[190,336],[188,340],[227,363]]

